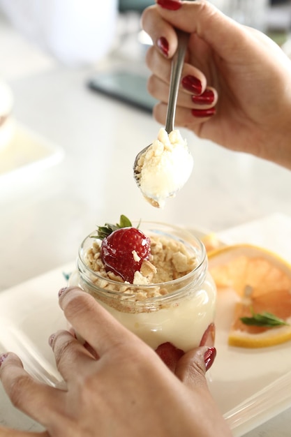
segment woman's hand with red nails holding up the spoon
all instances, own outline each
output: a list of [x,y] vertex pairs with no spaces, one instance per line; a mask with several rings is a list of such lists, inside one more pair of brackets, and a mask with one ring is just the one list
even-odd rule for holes
[[[144,30],[153,75],[149,92],[165,123],[174,28],[191,34],[182,72],[177,126],[201,138],[291,168],[291,61],[260,31],[244,27],[208,1],[158,0],[147,8]],[[166,8],[167,7],[167,8]],[[169,9],[171,8],[171,9]],[[176,10],[174,10],[176,9]]]

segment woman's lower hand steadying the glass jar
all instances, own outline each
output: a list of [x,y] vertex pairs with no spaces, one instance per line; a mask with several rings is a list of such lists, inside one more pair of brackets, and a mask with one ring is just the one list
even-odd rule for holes
[[43,424],[41,436],[231,436],[204,378],[214,348],[185,354],[174,374],[89,294],[68,288],[60,305],[86,340],[83,345],[67,331],[50,338],[66,390],[33,380],[13,353],[1,356],[5,390],[17,408]]

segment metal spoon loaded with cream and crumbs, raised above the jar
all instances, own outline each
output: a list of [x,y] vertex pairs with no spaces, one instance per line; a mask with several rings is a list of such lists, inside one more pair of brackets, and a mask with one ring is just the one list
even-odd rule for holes
[[169,103],[165,129],[158,138],[137,154],[133,165],[135,182],[144,198],[158,208],[186,184],[193,169],[193,157],[178,130],[174,130],[177,96],[184,64],[188,34],[177,31],[178,49],[172,60]]

